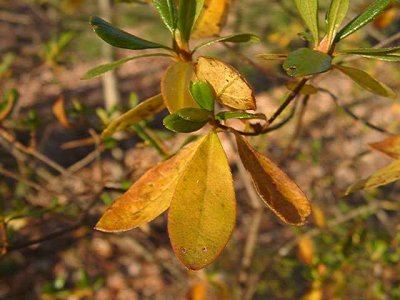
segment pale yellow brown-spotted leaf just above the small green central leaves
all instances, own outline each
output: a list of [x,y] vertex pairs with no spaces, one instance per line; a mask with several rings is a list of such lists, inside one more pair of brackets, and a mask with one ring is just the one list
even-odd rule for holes
[[195,72],[200,80],[212,85],[217,100],[222,104],[236,109],[256,109],[253,89],[232,66],[215,58],[200,57]]

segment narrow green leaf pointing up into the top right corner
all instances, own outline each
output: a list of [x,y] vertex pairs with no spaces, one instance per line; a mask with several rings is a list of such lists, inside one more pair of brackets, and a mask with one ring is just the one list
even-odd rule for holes
[[390,4],[391,0],[376,0],[364,12],[355,17],[336,35],[336,42],[348,37],[360,28],[367,25]]

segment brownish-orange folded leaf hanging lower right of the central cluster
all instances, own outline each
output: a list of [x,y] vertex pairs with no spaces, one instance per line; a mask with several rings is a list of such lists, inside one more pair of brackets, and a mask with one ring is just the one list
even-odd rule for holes
[[277,165],[256,152],[246,139],[237,134],[236,142],[243,165],[264,203],[285,223],[303,224],[311,213],[306,195]]

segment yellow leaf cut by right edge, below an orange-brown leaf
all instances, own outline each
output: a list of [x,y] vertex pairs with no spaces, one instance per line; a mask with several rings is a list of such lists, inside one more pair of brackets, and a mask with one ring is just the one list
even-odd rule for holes
[[388,166],[374,173],[370,177],[356,182],[350,186],[345,195],[357,192],[359,190],[374,189],[400,179],[400,159],[392,162]]

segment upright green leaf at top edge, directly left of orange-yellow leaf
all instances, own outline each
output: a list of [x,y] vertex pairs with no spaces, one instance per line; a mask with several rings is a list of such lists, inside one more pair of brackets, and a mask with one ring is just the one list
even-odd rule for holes
[[187,42],[196,24],[197,18],[203,9],[204,0],[184,0],[179,1],[178,29],[181,38]]

